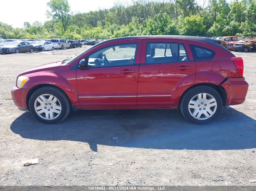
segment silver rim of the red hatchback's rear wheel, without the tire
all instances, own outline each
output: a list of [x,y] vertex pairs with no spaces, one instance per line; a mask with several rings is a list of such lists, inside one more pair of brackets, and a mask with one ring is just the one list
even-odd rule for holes
[[217,102],[211,94],[200,93],[195,95],[188,104],[188,110],[192,117],[199,120],[208,119],[214,115]]

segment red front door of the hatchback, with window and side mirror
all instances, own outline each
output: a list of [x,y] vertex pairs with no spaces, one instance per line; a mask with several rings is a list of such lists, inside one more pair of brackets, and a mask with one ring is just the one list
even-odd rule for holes
[[83,109],[137,107],[138,70],[142,40],[124,40],[97,47],[85,55],[86,68],[77,69]]

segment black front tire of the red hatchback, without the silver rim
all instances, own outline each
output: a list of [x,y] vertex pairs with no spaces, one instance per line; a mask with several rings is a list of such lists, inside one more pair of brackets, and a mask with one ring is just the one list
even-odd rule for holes
[[[58,98],[58,100],[61,103],[62,109],[61,109],[61,113],[59,114],[59,116],[55,119],[52,120],[47,120],[47,119],[43,119],[40,116],[38,116],[38,114],[35,111],[35,100],[42,94],[51,94],[53,96],[55,96],[56,98]],[[71,109],[71,103],[70,100],[68,98],[68,96],[59,88],[57,87],[51,87],[51,86],[45,86],[42,87],[38,90],[36,90],[30,97],[29,99],[29,110],[30,113],[32,114],[32,116],[37,119],[38,121],[45,123],[45,124],[55,124],[55,123],[60,123],[62,120],[64,120]]]

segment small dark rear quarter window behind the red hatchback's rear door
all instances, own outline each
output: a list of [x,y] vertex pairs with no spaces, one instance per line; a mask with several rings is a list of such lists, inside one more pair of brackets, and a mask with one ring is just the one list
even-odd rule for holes
[[215,52],[211,49],[193,44],[190,44],[189,46],[195,61],[211,60],[215,56]]

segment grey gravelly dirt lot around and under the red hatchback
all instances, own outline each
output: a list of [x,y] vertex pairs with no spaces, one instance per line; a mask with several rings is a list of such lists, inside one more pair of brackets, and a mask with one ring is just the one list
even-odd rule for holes
[[[256,53],[235,53],[245,103],[205,126],[176,110],[86,110],[44,125],[15,107],[20,72],[84,49],[0,55],[0,185],[256,185]],[[31,158],[40,164],[23,167]]]

